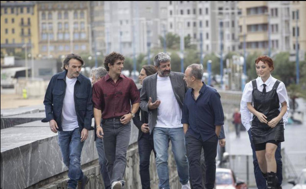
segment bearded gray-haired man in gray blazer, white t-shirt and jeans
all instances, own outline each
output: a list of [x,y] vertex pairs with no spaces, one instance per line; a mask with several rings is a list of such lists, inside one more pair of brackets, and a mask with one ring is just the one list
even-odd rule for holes
[[166,53],[155,56],[158,70],[143,80],[140,107],[149,112],[149,129],[154,133],[159,189],[170,189],[168,171],[169,140],[177,164],[182,189],[190,189],[185,135],[181,124],[185,93],[188,90],[184,74],[171,72],[171,59]]

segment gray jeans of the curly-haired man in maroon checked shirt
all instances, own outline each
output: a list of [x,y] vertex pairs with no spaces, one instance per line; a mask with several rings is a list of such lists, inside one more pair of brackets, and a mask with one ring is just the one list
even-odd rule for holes
[[126,151],[131,135],[131,122],[126,125],[118,118],[102,120],[104,153],[110,183],[122,180],[126,166]]

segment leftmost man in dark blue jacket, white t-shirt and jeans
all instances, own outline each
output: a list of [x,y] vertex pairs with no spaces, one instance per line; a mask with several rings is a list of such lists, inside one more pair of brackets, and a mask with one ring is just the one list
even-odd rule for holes
[[63,61],[61,73],[55,74],[48,85],[45,99],[46,118],[52,132],[58,132],[58,144],[68,170],[68,188],[85,188],[88,182],[81,170],[81,152],[93,117],[91,81],[80,74],[84,65],[77,54]]

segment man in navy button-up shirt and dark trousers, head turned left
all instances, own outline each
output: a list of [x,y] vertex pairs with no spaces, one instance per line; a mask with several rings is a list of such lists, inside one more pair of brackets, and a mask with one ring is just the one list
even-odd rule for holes
[[206,189],[215,186],[218,137],[224,121],[220,95],[201,81],[203,71],[199,64],[185,70],[184,80],[191,89],[185,94],[183,123],[188,147],[188,162],[192,188],[203,188],[200,156],[204,150],[206,165]]

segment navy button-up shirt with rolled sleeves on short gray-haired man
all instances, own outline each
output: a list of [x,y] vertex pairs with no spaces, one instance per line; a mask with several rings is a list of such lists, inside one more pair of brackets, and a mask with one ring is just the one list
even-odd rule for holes
[[224,114],[216,89],[203,82],[199,93],[195,100],[193,89],[186,92],[181,123],[189,124],[189,134],[206,141],[216,134],[216,125],[224,124]]

